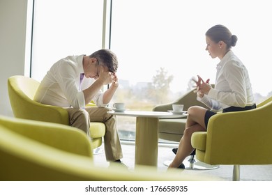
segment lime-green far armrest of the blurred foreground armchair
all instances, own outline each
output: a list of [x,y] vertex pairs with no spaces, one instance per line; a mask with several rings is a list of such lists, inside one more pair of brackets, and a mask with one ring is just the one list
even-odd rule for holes
[[0,125],[47,146],[91,157],[91,141],[75,127],[3,116],[0,117]]

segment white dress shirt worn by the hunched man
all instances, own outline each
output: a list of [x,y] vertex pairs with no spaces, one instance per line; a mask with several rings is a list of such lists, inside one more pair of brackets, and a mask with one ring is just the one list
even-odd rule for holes
[[[84,77],[80,88],[80,73],[84,73],[83,56],[67,56],[54,63],[40,82],[34,100],[59,107],[85,107],[82,90],[91,86],[95,80]],[[103,104],[102,91],[95,95],[93,101],[98,107],[107,106]]]

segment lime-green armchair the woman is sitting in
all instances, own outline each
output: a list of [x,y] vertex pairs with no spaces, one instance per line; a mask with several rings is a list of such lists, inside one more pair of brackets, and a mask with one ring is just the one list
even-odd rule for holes
[[272,164],[272,97],[257,109],[216,114],[207,132],[192,134],[197,159],[206,164],[232,164],[232,180],[240,165]]

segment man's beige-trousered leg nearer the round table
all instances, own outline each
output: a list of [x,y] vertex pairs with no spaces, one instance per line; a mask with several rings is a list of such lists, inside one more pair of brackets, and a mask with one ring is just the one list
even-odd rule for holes
[[104,144],[107,161],[116,161],[123,158],[117,131],[116,116],[107,114],[107,111],[109,111],[107,108],[86,107],[85,109],[89,112],[91,122],[105,123],[106,133],[104,136]]

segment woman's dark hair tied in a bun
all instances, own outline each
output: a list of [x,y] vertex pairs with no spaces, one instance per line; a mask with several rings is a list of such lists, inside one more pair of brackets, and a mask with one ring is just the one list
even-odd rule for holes
[[205,35],[216,43],[222,40],[227,44],[227,49],[234,47],[238,40],[237,36],[232,35],[229,29],[223,25],[216,25],[211,27],[211,29],[206,31]]

